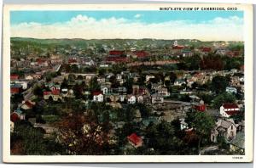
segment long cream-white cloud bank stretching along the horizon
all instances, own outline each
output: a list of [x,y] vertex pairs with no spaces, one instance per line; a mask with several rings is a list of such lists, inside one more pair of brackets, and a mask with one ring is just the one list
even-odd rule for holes
[[218,17],[197,23],[193,20],[170,20],[160,23],[145,23],[125,18],[96,20],[86,15],[77,15],[67,22],[55,24],[20,23],[11,25],[11,36],[33,38],[156,38],[199,39],[202,41],[242,41],[243,20],[237,16]]

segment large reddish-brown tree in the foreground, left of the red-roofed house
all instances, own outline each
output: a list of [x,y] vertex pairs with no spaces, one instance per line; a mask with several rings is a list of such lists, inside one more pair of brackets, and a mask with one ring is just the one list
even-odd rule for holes
[[109,154],[108,132],[103,132],[102,126],[91,119],[83,114],[73,114],[56,124],[68,154]]

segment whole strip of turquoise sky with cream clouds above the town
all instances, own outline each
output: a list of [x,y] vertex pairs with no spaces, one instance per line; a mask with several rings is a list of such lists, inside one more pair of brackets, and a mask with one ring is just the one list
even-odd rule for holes
[[241,11],[11,11],[11,36],[243,41]]

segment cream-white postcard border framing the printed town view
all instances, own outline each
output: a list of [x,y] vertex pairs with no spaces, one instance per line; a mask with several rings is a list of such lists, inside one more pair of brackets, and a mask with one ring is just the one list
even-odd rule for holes
[[[159,10],[159,7],[237,7],[244,11],[245,41],[245,155],[242,160],[233,155],[106,155],[106,156],[17,156],[10,155],[9,107],[10,107],[10,25],[11,10]],[[54,163],[54,162],[251,162],[253,160],[253,6],[245,4],[217,3],[160,3],[160,4],[56,4],[56,5],[4,5],[3,8],[3,162]],[[239,156],[239,155],[236,155]]]

